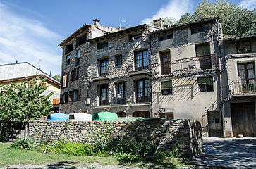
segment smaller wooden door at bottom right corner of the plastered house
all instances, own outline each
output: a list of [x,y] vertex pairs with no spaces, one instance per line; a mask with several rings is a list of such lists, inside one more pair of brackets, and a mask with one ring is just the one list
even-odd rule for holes
[[221,137],[221,116],[219,111],[207,111],[209,137]]

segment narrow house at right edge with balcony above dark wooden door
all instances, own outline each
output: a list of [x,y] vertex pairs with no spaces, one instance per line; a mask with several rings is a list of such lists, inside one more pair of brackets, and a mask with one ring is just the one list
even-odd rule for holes
[[256,134],[256,37],[224,39],[221,84],[224,137]]

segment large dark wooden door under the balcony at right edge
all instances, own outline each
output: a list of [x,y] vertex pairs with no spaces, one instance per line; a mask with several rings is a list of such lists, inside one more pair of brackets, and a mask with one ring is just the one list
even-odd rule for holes
[[255,103],[231,104],[231,121],[233,136],[255,137]]

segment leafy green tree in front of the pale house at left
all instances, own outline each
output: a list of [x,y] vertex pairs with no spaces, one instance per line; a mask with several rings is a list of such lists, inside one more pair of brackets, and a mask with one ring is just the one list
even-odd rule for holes
[[[28,131],[28,123],[32,118],[40,118],[51,113],[51,101],[53,94],[44,94],[43,79],[33,79],[21,83],[10,83],[0,87],[0,120],[1,128],[6,123],[25,123]],[[25,134],[28,134],[26,132]]]

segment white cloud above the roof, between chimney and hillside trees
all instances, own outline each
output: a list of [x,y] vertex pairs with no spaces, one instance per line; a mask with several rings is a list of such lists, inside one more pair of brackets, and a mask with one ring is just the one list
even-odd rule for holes
[[181,15],[186,12],[191,12],[193,9],[193,1],[190,0],[170,0],[165,6],[161,6],[159,11],[152,15],[151,18],[145,18],[141,21],[142,23],[149,24],[152,20],[159,18],[170,17],[175,20],[179,20]]

